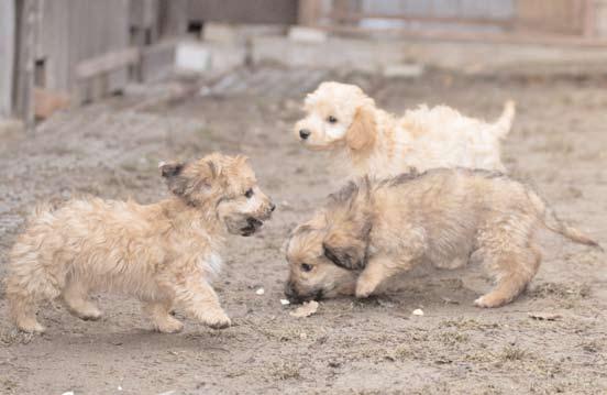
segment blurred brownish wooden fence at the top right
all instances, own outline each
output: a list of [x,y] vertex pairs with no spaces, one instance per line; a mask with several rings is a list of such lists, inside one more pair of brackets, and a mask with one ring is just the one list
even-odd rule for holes
[[300,23],[338,33],[607,45],[605,0],[301,0]]

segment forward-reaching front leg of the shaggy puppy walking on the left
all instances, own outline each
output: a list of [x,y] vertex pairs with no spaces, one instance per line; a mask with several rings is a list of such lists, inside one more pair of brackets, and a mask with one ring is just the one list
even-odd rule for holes
[[175,301],[180,304],[194,319],[214,328],[227,328],[231,325],[219,304],[214,289],[203,276],[188,274],[183,284],[175,286]]

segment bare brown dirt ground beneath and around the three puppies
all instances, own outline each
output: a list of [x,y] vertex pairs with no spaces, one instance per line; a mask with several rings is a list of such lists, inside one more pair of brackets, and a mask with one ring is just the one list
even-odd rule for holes
[[[26,138],[0,134],[0,273],[35,201],[76,193],[154,201],[167,195],[158,160],[243,152],[278,205],[261,233],[230,239],[216,283],[229,329],[187,320],[179,334],[156,333],[134,299],[99,295],[100,321],[54,303],[38,314],[47,332],[31,337],[11,328],[1,298],[0,393],[607,393],[605,255],[558,235],[542,234],[544,262],[532,286],[498,309],[472,306],[490,286],[478,267],[416,271],[369,300],[321,301],[309,318],[289,316],[279,303],[287,233],[341,184],[328,158],[290,133],[302,92],[318,79],[360,84],[396,112],[448,103],[494,119],[516,99],[504,147],[509,171],[607,244],[606,79],[430,72],[386,80],[267,68],[230,78],[206,96],[158,106],[112,98],[59,114]],[[423,316],[411,314],[418,308]]]

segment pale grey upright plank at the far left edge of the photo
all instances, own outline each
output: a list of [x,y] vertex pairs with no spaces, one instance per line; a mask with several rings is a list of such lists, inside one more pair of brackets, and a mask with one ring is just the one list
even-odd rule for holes
[[13,0],[0,1],[0,118],[12,114],[12,84],[15,36]]

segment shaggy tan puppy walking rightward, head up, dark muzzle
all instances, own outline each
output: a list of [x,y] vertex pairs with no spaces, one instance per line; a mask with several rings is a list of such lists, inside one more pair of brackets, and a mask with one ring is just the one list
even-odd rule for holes
[[174,305],[212,328],[230,325],[209,285],[224,237],[253,234],[275,206],[244,156],[214,153],[159,167],[173,196],[157,204],[91,197],[34,212],[10,252],[5,281],[19,329],[44,331],[36,305],[57,297],[74,315],[99,319],[93,290],[137,297],[161,332],[183,328]]

